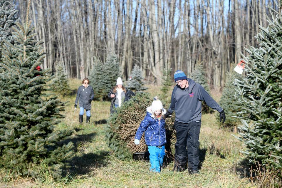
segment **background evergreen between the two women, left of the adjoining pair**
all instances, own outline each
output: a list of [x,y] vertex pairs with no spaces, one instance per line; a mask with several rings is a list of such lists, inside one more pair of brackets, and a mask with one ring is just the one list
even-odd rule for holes
[[[104,89],[104,85],[101,84],[101,80],[105,79],[103,74],[103,63],[98,57],[94,57],[94,65],[89,74],[90,85],[93,87],[94,98],[102,100],[105,93],[101,91]],[[108,88],[109,90],[109,88]],[[107,90],[105,91],[107,92]],[[108,93],[107,93],[108,94]]]

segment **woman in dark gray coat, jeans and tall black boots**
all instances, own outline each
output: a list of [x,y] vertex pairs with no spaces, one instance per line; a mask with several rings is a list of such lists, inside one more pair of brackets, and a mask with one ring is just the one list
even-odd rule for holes
[[77,103],[79,100],[79,122],[83,122],[83,114],[84,109],[86,110],[86,123],[90,120],[90,110],[91,110],[91,101],[94,99],[94,92],[92,86],[89,85],[89,79],[84,78],[82,81],[82,85],[79,86],[76,94],[75,105],[77,107]]

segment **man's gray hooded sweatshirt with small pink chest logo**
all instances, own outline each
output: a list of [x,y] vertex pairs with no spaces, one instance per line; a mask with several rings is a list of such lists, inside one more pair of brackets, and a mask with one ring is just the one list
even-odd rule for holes
[[171,103],[168,111],[175,111],[175,120],[182,123],[201,120],[202,100],[209,107],[218,112],[223,109],[215,102],[209,93],[191,78],[187,78],[189,87],[182,89],[179,85],[174,86],[171,95]]

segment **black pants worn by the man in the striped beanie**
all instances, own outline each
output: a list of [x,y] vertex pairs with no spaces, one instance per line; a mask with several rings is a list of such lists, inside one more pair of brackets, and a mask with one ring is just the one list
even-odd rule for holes
[[176,165],[184,168],[188,158],[188,169],[191,171],[198,169],[201,120],[190,123],[182,123],[175,120],[174,129],[176,130]]

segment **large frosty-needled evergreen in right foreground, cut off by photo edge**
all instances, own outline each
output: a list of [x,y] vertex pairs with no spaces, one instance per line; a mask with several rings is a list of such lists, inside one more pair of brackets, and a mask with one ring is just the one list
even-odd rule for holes
[[271,19],[267,28],[260,27],[256,36],[259,46],[246,49],[249,56],[243,56],[246,77],[236,79],[238,101],[243,106],[239,113],[243,122],[239,139],[244,141],[243,153],[251,163],[281,171],[282,15],[268,8]]

